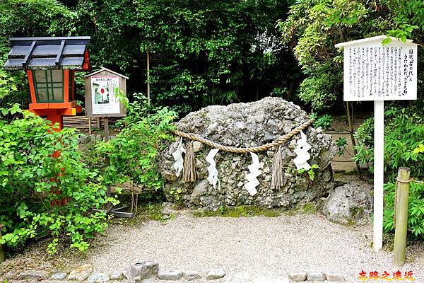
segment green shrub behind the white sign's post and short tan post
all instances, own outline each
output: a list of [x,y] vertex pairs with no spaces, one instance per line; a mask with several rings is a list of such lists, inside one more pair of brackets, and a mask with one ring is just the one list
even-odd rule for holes
[[[416,108],[389,108],[384,112],[384,230],[394,229],[394,194],[399,167],[411,168],[411,176],[424,180],[424,115]],[[374,158],[373,119],[358,128],[358,154],[355,160],[368,163],[372,171]],[[424,235],[424,185],[411,183],[408,229],[414,236]]]

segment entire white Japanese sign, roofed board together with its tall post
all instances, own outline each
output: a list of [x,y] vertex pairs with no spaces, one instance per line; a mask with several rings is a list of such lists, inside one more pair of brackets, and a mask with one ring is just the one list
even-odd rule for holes
[[335,45],[343,47],[343,100],[374,101],[374,242],[383,246],[384,100],[417,99],[417,46],[386,35]]

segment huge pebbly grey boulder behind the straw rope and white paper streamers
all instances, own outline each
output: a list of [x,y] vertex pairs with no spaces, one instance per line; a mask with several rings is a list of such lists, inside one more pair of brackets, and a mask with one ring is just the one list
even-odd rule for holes
[[[269,97],[253,103],[235,103],[228,106],[213,105],[197,112],[191,112],[176,123],[184,132],[192,132],[201,137],[226,146],[260,146],[282,137],[309,118],[298,105],[282,98]],[[189,207],[216,209],[221,205],[254,204],[263,207],[291,208],[299,202],[310,202],[329,194],[333,189],[333,176],[330,166],[336,154],[336,146],[329,134],[322,129],[306,129],[310,149],[310,164],[317,164],[315,180],[310,182],[305,174],[298,173],[293,163],[294,149],[300,135],[296,135],[283,145],[285,156],[285,185],[280,190],[271,189],[271,163],[276,149],[258,153],[261,162],[261,175],[258,180],[258,194],[251,196],[245,190],[247,166],[252,163],[249,154],[232,154],[219,151],[215,161],[221,190],[214,190],[208,183],[208,162],[205,160],[209,146],[194,143],[196,151],[196,171],[199,179],[194,183],[183,183],[181,175],[175,176],[172,153],[179,143],[179,137],[160,152],[158,170],[165,179],[165,195],[168,200],[184,202]],[[184,139],[183,146],[187,146]],[[175,192],[181,190],[176,197]]]

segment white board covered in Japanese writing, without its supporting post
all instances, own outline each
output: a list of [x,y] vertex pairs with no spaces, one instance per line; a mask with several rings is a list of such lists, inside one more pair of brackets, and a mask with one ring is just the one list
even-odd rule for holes
[[417,99],[416,44],[356,40],[343,52],[343,100]]

